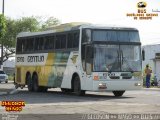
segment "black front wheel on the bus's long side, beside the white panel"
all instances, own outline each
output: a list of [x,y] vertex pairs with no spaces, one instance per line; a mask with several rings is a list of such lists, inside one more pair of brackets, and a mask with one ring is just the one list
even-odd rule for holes
[[76,95],[78,96],[83,96],[85,95],[85,91],[84,90],[81,90],[81,84],[80,84],[80,79],[78,76],[76,76],[74,78],[74,81],[73,81],[73,91]]

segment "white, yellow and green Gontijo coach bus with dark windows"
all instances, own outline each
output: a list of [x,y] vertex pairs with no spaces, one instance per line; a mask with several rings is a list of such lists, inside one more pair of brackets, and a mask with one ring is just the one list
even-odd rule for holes
[[16,41],[16,87],[122,96],[142,87],[141,42],[135,28],[67,23],[24,32]]

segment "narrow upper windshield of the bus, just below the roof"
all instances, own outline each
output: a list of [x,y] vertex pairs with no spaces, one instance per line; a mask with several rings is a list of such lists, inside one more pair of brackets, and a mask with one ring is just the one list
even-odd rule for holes
[[140,38],[137,30],[85,29],[82,42],[88,41],[140,42]]

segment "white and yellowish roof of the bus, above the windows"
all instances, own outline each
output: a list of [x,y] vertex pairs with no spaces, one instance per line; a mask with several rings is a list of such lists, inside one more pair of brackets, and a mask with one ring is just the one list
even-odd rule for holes
[[38,36],[38,35],[51,34],[56,32],[78,30],[80,28],[136,30],[137,31],[136,28],[130,28],[130,27],[122,27],[122,26],[115,26],[115,25],[96,25],[96,24],[85,23],[85,22],[72,22],[72,23],[61,24],[55,27],[50,27],[50,28],[47,28],[45,31],[41,31],[41,32],[21,32],[17,35],[17,37]]

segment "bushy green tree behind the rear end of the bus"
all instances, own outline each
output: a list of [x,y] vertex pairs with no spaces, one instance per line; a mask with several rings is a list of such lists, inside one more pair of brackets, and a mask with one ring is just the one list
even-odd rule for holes
[[33,32],[38,31],[39,29],[39,22],[35,17],[23,17],[17,20],[6,18],[6,34],[3,37],[5,47],[3,51],[3,62],[15,53],[15,42],[18,33]]

